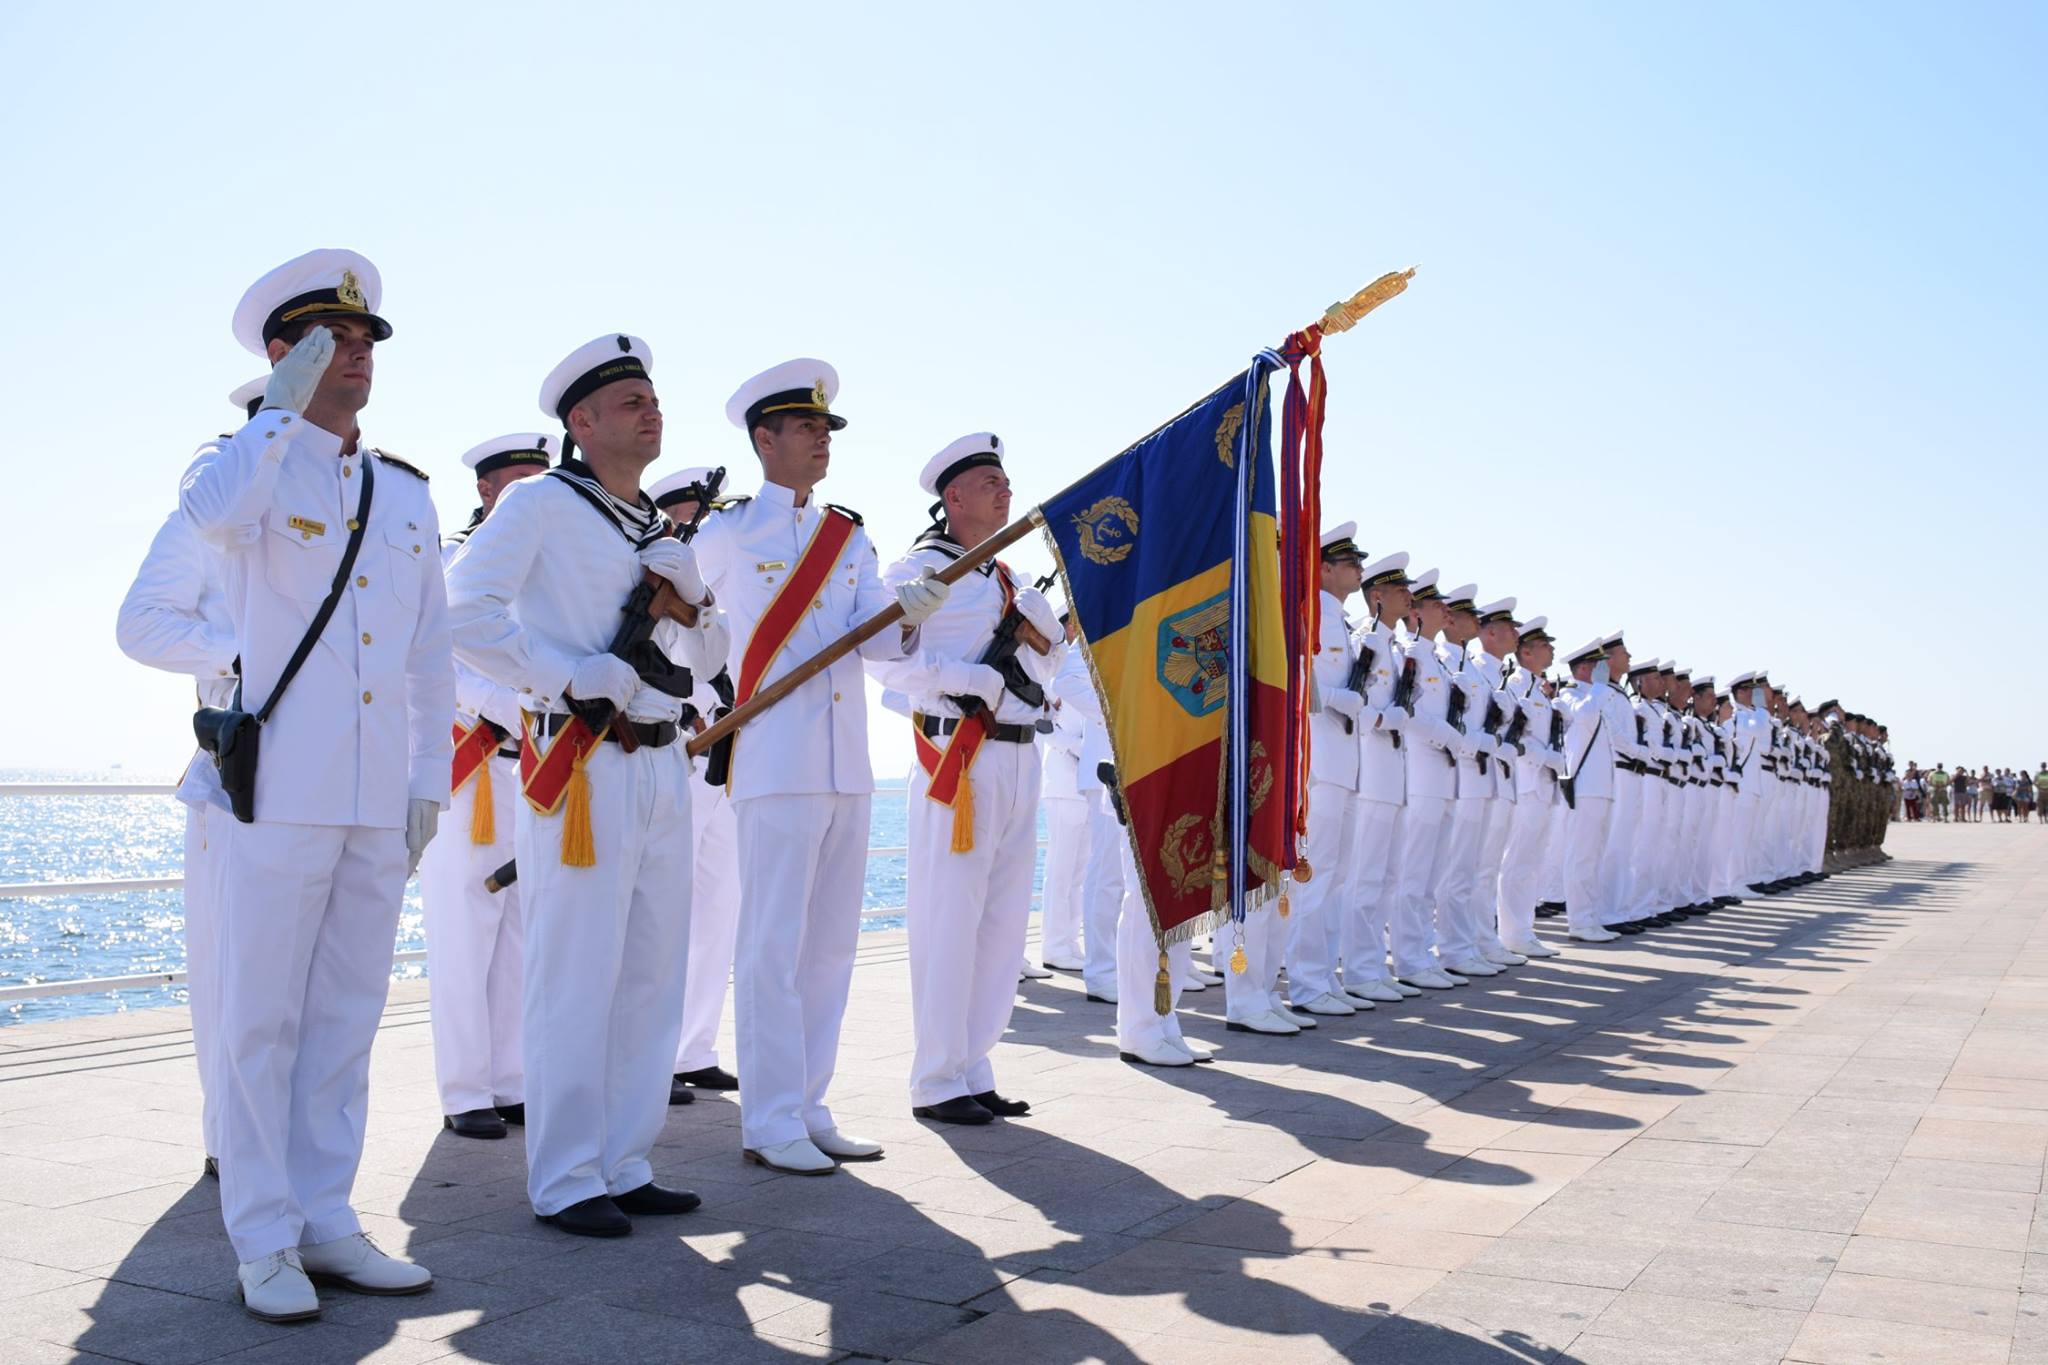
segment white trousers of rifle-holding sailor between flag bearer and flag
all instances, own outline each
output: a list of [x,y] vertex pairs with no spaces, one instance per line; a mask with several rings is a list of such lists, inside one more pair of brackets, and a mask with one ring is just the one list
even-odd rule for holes
[[1010,1027],[1038,870],[1038,745],[987,741],[969,772],[975,847],[952,851],[952,810],[909,776],[909,1103],[995,1089],[989,1052]]

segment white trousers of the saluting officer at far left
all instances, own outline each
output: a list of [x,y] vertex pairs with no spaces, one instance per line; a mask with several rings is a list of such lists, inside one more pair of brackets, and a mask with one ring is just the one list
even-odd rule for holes
[[[229,821],[209,810],[207,821]],[[362,1230],[371,1042],[391,986],[406,835],[362,825],[238,825],[219,941],[221,1222],[236,1259]]]

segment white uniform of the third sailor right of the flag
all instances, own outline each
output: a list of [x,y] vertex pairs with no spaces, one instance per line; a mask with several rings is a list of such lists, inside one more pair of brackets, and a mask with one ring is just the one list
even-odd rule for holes
[[1395,667],[1397,681],[1409,659],[1415,661],[1411,698],[1415,714],[1403,720],[1401,735],[1407,800],[1395,823],[1395,857],[1386,874],[1393,892],[1386,937],[1393,945],[1395,976],[1415,976],[1438,966],[1432,884],[1450,806],[1458,796],[1454,759],[1464,739],[1444,720],[1452,684],[1436,641],[1430,636],[1409,641]]

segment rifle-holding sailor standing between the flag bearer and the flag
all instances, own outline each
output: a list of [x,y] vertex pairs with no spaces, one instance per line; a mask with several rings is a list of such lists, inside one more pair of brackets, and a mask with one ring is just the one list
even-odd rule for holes
[[[918,483],[938,499],[934,522],[883,571],[887,587],[928,579],[1010,522],[1010,475],[993,432],[948,444]],[[997,647],[1004,626],[1012,639]],[[1030,923],[1036,724],[1059,639],[1044,596],[991,559],[926,618],[915,655],[868,669],[909,698],[918,757],[905,878],[915,1117],[987,1124],[1030,1111],[995,1091],[989,1052],[1010,1025]]]

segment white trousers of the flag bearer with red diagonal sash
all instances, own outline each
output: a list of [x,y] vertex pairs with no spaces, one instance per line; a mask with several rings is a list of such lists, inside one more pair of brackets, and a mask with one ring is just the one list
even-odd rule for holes
[[[825,1091],[840,1056],[860,945],[872,796],[817,792],[735,800],[739,945],[739,1142],[760,1150],[834,1128]],[[1016,954],[1006,964],[1016,984]]]

